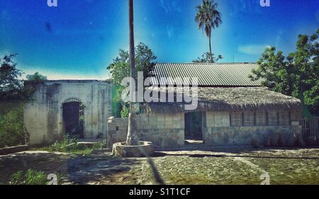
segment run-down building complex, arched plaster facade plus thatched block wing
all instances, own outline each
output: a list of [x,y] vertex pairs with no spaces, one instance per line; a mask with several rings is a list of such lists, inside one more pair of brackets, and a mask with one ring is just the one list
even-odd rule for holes
[[[180,147],[186,140],[208,145],[252,140],[293,144],[301,135],[301,101],[250,81],[248,75],[256,67],[253,63],[157,64],[154,82],[161,77],[198,78],[198,106],[185,110],[184,102],[143,103],[135,118],[138,137],[157,148]],[[174,86],[152,89],[179,93]],[[108,81],[35,84],[34,101],[24,113],[30,144],[52,142],[81,123],[82,129],[73,132],[80,137],[105,138],[109,146],[125,141],[128,119],[112,117],[111,88]]]

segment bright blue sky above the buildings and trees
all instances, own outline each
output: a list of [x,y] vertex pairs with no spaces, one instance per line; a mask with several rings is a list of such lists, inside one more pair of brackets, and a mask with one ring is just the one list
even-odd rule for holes
[[[256,62],[267,46],[286,54],[298,34],[319,28],[318,0],[217,0],[223,24],[213,30],[220,62]],[[106,66],[128,50],[128,0],[0,0],[0,55],[17,52],[18,68],[49,79],[106,79]],[[200,0],[135,0],[135,43],[157,62],[191,62],[208,51],[194,21]]]

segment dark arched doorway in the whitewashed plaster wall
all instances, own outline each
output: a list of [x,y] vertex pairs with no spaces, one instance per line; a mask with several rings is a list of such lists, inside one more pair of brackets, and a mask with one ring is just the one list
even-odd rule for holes
[[84,106],[81,101],[69,98],[62,103],[62,123],[66,135],[84,138]]

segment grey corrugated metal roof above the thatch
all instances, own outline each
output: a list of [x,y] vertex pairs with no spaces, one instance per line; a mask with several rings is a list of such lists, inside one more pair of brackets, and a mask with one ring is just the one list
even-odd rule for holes
[[[198,78],[198,86],[262,86],[261,80],[251,81],[248,76],[252,69],[257,69],[257,63],[181,63],[156,64],[155,76],[152,83],[172,84],[172,81],[163,81],[161,78]],[[156,81],[157,80],[157,81]]]

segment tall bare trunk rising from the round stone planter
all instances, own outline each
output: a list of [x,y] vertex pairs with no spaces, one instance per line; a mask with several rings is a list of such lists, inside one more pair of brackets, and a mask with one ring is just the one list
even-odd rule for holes
[[135,134],[135,120],[134,120],[134,102],[135,97],[135,49],[134,49],[134,18],[133,18],[133,0],[128,1],[129,26],[130,26],[130,115],[128,116],[128,137],[126,144],[133,146],[138,144],[138,138]]

